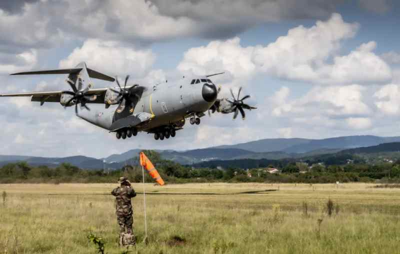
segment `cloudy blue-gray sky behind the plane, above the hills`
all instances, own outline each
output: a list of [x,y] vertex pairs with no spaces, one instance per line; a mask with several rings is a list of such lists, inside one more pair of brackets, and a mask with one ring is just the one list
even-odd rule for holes
[[258,107],[244,121],[206,115],[163,141],[146,133],[117,140],[72,107],[0,98],[0,154],[102,157],[260,138],[400,135],[400,3],[326,2],[0,1],[0,93],[66,89],[63,75],[8,74],[85,61],[143,85],[225,71],[214,78],[219,96],[243,86]]

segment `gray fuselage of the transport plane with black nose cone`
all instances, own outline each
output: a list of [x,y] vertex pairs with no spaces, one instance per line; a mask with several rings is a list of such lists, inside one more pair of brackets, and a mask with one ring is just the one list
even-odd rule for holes
[[147,88],[135,104],[133,112],[124,110],[118,113],[115,112],[115,107],[111,106],[103,110],[82,111],[78,116],[94,125],[111,130],[115,121],[126,117],[129,119],[131,115],[145,112],[152,118],[146,124],[138,126],[137,130],[152,132],[154,128],[171,125],[193,114],[201,114],[215,102],[216,88],[212,82],[190,84],[190,81],[185,81],[181,84],[163,83]]

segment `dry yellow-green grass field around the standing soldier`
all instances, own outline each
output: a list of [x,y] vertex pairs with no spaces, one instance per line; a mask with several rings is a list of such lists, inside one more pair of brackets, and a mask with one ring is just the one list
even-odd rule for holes
[[[149,241],[132,253],[400,253],[400,189],[373,185],[146,184]],[[96,253],[90,232],[121,253],[115,186],[0,184],[0,253]],[[132,200],[140,242],[143,195]]]

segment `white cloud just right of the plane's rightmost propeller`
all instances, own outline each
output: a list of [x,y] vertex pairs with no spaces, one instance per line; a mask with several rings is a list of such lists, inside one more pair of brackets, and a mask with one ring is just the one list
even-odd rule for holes
[[[288,100],[286,89],[281,88],[271,96],[272,116],[286,119],[296,126],[322,125],[338,127],[343,119],[349,128],[362,129],[370,126],[367,116],[372,110],[364,102],[360,85],[314,86],[304,95]],[[276,99],[284,94],[281,99]],[[277,96],[276,96],[277,95]]]

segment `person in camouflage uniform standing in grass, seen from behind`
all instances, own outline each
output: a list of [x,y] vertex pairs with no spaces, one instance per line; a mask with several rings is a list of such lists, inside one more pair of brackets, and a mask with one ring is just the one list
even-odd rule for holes
[[114,188],[111,194],[115,196],[116,217],[119,224],[119,244],[133,245],[135,244],[135,236],[133,234],[132,224],[132,204],[130,198],[136,196],[136,192],[130,185],[128,179],[124,176],[119,177],[120,186]]

